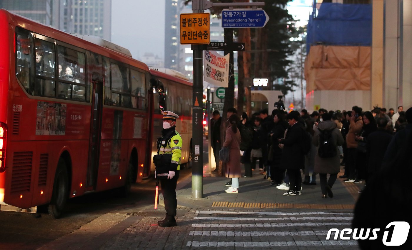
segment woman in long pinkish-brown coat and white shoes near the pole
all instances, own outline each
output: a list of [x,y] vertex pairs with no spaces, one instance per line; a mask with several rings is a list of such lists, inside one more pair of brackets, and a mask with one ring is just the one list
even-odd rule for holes
[[241,177],[240,168],[240,132],[236,127],[239,118],[236,115],[229,117],[229,126],[226,129],[224,147],[229,147],[229,161],[226,163],[226,177],[232,178],[232,186],[226,190],[226,193],[239,193],[239,177]]

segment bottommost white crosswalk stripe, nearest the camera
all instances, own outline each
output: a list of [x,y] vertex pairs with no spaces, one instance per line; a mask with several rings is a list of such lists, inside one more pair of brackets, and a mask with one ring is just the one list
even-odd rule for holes
[[358,245],[356,241],[266,241],[266,242],[234,242],[234,241],[188,241],[188,247],[275,247],[275,246],[329,246]]

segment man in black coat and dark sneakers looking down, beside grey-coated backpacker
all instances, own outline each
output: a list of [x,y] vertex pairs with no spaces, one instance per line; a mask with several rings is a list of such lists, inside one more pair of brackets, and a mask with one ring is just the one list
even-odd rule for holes
[[279,139],[283,144],[282,165],[286,168],[289,175],[289,191],[283,193],[286,196],[301,195],[302,175],[300,170],[304,168],[305,158],[302,148],[302,138],[304,138],[304,125],[298,122],[300,114],[297,111],[291,111],[286,116],[290,127],[286,132],[285,138]]

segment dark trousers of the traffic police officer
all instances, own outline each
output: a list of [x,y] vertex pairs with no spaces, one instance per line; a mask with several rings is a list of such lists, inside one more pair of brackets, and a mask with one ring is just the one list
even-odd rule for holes
[[179,178],[179,171],[176,171],[173,179],[160,179],[162,187],[162,195],[164,199],[164,208],[166,209],[166,219],[174,219],[176,216],[177,199],[176,199],[176,184]]

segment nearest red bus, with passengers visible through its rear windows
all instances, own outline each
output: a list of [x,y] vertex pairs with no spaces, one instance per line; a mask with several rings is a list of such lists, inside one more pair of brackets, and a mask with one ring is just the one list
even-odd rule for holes
[[147,65],[122,47],[4,9],[0,33],[2,209],[45,205],[57,218],[67,198],[127,194],[149,177],[159,97],[172,108],[171,86],[191,91],[190,83],[166,74],[150,81]]

